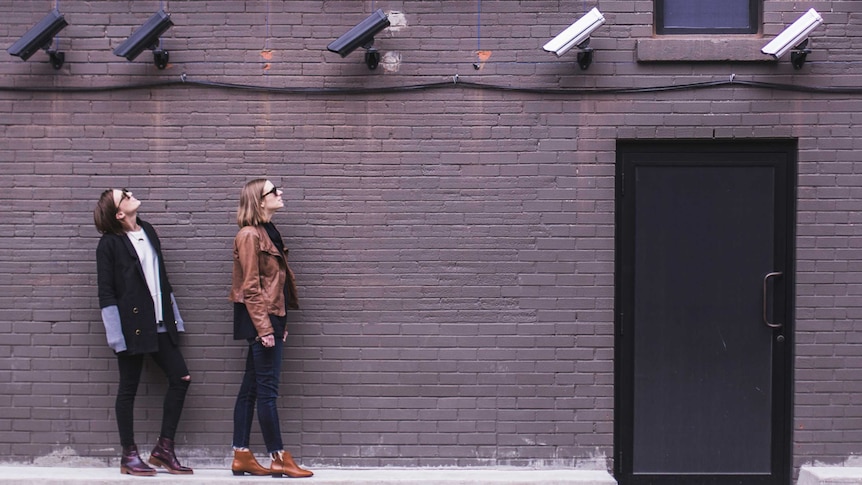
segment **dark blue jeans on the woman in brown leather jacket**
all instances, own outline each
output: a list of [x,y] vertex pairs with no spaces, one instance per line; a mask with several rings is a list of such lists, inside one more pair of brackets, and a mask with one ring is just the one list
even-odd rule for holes
[[276,335],[274,347],[249,340],[245,359],[245,374],[233,408],[233,446],[248,448],[254,408],[263,433],[266,451],[282,451],[281,427],[278,420],[278,382],[281,378],[281,356],[284,342]]

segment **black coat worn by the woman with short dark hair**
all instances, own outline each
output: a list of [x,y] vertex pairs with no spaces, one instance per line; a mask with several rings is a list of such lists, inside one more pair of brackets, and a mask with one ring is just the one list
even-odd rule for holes
[[[162,246],[153,226],[138,219],[159,258],[159,285],[162,291],[162,315],[168,335],[177,345],[177,321],[171,305],[171,288]],[[126,348],[130,354],[145,354],[159,350],[156,311],[144,269],[128,236],[104,234],[96,248],[96,268],[99,284],[99,307],[116,305]]]

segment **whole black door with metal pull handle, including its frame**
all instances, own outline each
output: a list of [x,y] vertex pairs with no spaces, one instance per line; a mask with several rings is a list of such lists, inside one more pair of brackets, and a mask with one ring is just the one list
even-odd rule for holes
[[621,142],[615,473],[790,483],[790,142]]

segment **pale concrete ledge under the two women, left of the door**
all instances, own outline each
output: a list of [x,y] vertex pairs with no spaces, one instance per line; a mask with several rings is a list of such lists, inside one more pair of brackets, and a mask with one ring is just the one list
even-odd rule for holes
[[[529,468],[329,468],[314,470],[311,478],[235,477],[230,470],[196,469],[194,475],[170,475],[159,471],[155,477],[121,475],[117,468],[65,468],[40,466],[0,466],[0,484],[26,485],[108,485],[115,483],[178,483],[184,485],[281,483],[294,485],[616,485],[602,470]],[[277,480],[274,482],[274,480]]]

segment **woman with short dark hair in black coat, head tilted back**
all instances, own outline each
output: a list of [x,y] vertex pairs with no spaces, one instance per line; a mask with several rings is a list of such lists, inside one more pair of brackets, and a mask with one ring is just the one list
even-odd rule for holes
[[134,434],[135,396],[144,356],[168,379],[161,432],[149,462],[173,474],[191,474],[174,453],[174,437],[191,376],[177,344],[184,332],[161,243],[153,226],[138,217],[141,201],[126,189],[102,192],[93,222],[102,233],[96,248],[99,306],[108,346],[117,356],[120,384],[115,404],[123,454],[120,473],[155,475],[138,455]]

